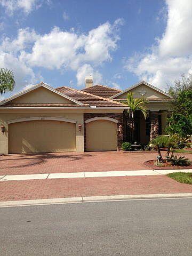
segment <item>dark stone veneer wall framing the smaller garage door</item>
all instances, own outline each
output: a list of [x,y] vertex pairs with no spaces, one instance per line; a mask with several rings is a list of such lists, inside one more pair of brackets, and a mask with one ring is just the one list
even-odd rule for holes
[[121,145],[123,143],[123,127],[122,131],[118,131],[118,126],[121,124],[123,126],[123,113],[84,113],[84,151],[86,151],[86,124],[85,121],[90,118],[94,117],[100,117],[100,116],[105,116],[105,117],[110,117],[118,120],[117,123],[117,148],[118,150],[121,149]]

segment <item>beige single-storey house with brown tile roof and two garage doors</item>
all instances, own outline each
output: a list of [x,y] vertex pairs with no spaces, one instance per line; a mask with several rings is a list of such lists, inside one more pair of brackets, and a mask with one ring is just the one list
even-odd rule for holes
[[94,85],[86,88],[52,87],[39,83],[0,102],[0,153],[105,151],[121,148],[129,139],[126,93],[149,99],[148,120],[135,115],[135,136],[147,143],[164,132],[170,95],[146,82],[125,91]]

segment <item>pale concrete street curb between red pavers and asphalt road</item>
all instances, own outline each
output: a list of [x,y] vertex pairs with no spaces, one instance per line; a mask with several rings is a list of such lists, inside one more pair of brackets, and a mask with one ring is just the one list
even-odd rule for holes
[[2,207],[14,206],[33,206],[33,205],[50,205],[50,204],[66,204],[66,203],[86,203],[86,202],[102,202],[102,201],[123,201],[123,200],[139,200],[139,199],[171,199],[171,198],[192,198],[192,193],[179,194],[147,194],[147,195],[112,195],[112,196],[84,196],[69,198],[49,198],[34,199],[24,201],[5,201],[0,202]]

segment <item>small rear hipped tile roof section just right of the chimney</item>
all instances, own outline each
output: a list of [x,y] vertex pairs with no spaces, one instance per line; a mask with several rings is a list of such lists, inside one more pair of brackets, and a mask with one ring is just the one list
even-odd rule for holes
[[100,85],[100,84],[93,85],[89,88],[85,88],[82,91],[89,92],[91,94],[98,95],[103,98],[110,98],[111,96],[121,92],[121,90],[119,89],[110,88],[108,86]]

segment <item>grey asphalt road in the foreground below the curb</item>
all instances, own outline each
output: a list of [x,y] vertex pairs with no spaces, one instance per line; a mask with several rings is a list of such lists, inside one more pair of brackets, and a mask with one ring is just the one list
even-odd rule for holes
[[0,209],[0,255],[192,255],[192,199]]

